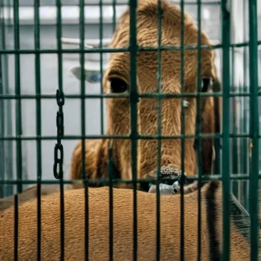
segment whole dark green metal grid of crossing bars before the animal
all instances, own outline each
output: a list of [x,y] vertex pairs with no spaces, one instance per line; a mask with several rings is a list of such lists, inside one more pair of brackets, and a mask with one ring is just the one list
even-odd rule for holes
[[[160,4],[160,1],[159,1]],[[198,14],[200,14],[200,2],[197,1],[197,12]],[[250,191],[250,197],[249,197],[249,204],[250,204],[250,217],[251,217],[251,260],[257,260],[257,256],[258,256],[258,235],[257,235],[257,185],[258,185],[258,155],[259,155],[259,151],[258,151],[258,138],[259,138],[259,128],[258,128],[258,93],[257,93],[257,86],[258,86],[258,77],[257,77],[257,69],[258,69],[258,58],[256,56],[257,54],[257,17],[256,17],[256,1],[252,0],[249,1],[249,61],[250,61],[250,87],[249,87],[249,92],[248,93],[236,93],[233,96],[237,96],[239,94],[239,96],[246,96],[247,94],[250,95],[250,101],[251,101],[251,106],[250,106],[250,119],[251,119],[251,123],[250,123],[250,133],[249,135],[245,136],[245,137],[249,137],[252,140],[252,157],[251,157],[251,169],[250,169],[250,176],[249,176],[249,180],[250,180],[250,186],[251,186],[251,191]],[[84,76],[84,61],[85,61],[85,55],[87,54],[91,54],[94,52],[98,52],[100,53],[100,58],[102,58],[102,53],[105,53],[106,51],[122,51],[122,49],[118,49],[118,50],[111,50],[111,49],[107,49],[107,48],[101,48],[102,45],[100,45],[100,47],[98,48],[94,48],[91,50],[86,50],[84,48],[84,39],[85,39],[85,28],[84,28],[84,22],[85,21],[85,13],[83,11],[83,7],[84,7],[84,1],[81,1],[80,3],[80,38],[81,38],[81,43],[80,43],[80,49],[67,49],[67,50],[62,50],[62,42],[61,42],[61,38],[62,38],[62,3],[61,1],[57,1],[56,3],[57,5],[57,18],[58,18],[58,23],[57,23],[57,50],[53,49],[40,49],[40,32],[39,32],[39,2],[38,5],[35,5],[35,46],[34,49],[20,49],[20,41],[19,41],[19,13],[18,13],[18,6],[19,6],[19,2],[14,2],[14,7],[13,7],[13,12],[14,12],[14,48],[15,49],[2,49],[1,52],[3,54],[13,54],[14,55],[14,63],[15,63],[15,93],[14,95],[8,95],[8,94],[2,94],[2,100],[3,99],[12,99],[15,98],[15,102],[16,102],[16,137],[3,137],[1,138],[1,141],[6,141],[6,140],[15,140],[16,141],[16,174],[17,174],[17,180],[16,181],[5,181],[5,180],[1,180],[2,184],[17,184],[17,191],[21,192],[22,191],[22,115],[21,115],[21,98],[30,98],[30,99],[34,99],[36,98],[36,145],[37,145],[37,184],[38,184],[38,254],[40,254],[40,182],[42,179],[42,168],[41,168],[41,160],[40,160],[40,155],[41,155],[41,99],[40,98],[51,98],[51,97],[56,97],[54,94],[49,94],[49,95],[45,95],[43,97],[40,97],[41,95],[41,70],[40,70],[40,54],[48,54],[48,53],[54,53],[58,55],[58,86],[59,86],[59,90],[61,93],[63,93],[63,63],[62,63],[62,59],[63,56],[66,55],[66,53],[71,53],[71,54],[76,54],[76,53],[80,53],[80,63],[81,63],[81,94],[80,95],[65,95],[65,98],[74,98],[74,97],[79,97],[81,98],[81,136],[80,138],[82,138],[83,141],[83,148],[84,148],[84,139],[87,138],[99,138],[99,136],[86,136],[86,129],[85,129],[85,98],[86,97],[92,97],[91,95],[86,95],[86,90],[85,90],[85,76]],[[184,10],[184,1],[181,1],[181,12],[182,10]],[[100,3],[101,6],[101,3]],[[141,137],[138,134],[138,129],[137,129],[137,103],[138,103],[138,97],[142,97],[143,95],[139,95],[138,94],[138,90],[137,90],[137,80],[136,80],[136,53],[137,53],[137,38],[136,38],[136,8],[137,8],[137,1],[131,1],[130,3],[130,12],[131,12],[131,27],[130,27],[130,44],[129,44],[129,48],[125,49],[125,51],[129,51],[131,54],[131,91],[130,91],[130,101],[131,101],[131,120],[132,120],[132,128],[131,128],[131,135],[128,137],[121,137],[121,138],[131,138],[132,139],[132,172],[133,172],[133,185],[134,185],[134,202],[136,202],[137,200],[137,196],[136,196],[136,190],[137,190],[137,140],[139,138],[147,138],[150,139],[151,137]],[[102,9],[100,9],[100,22],[102,21]],[[160,9],[159,9],[160,10]],[[160,14],[159,14],[160,15]],[[222,1],[222,46],[220,46],[220,44],[217,44],[215,47],[220,48],[222,47],[222,82],[223,82],[223,117],[222,117],[222,139],[223,139],[223,150],[222,150],[222,176],[220,176],[220,178],[222,178],[223,180],[223,207],[224,207],[224,216],[223,216],[223,257],[228,257],[229,256],[229,215],[228,215],[228,210],[229,210],[229,196],[230,196],[230,177],[229,175],[227,175],[227,172],[230,173],[228,166],[230,166],[230,153],[229,153],[229,139],[230,137],[236,137],[236,138],[240,138],[240,136],[242,136],[241,134],[230,134],[230,115],[226,112],[230,111],[230,86],[231,86],[231,82],[230,82],[230,13],[228,12],[227,6],[226,6],[226,1]],[[198,22],[198,27],[201,27],[200,22]],[[161,25],[159,23],[159,28],[161,28]],[[161,30],[159,30],[159,32],[161,32]],[[181,35],[182,35],[182,29],[181,29]],[[102,29],[100,31],[100,38],[102,39]],[[200,37],[199,37],[200,38]],[[166,49],[164,47],[161,47],[161,36],[159,35],[159,47],[156,48],[155,50],[158,51],[158,58],[160,59],[161,57],[161,50],[162,49]],[[184,54],[184,42],[183,42],[183,38],[181,38],[181,43],[180,43],[180,48],[181,49],[181,54]],[[247,46],[247,44],[242,44],[242,43],[234,43],[232,45],[232,48],[235,47],[239,47],[239,46]],[[177,49],[177,47],[170,47],[173,49]],[[198,48],[200,49],[200,46],[193,46],[193,47],[189,47],[189,48]],[[145,49],[141,49],[141,51],[146,51]],[[36,81],[36,90],[35,90],[35,94],[36,95],[21,95],[21,89],[20,89],[20,56],[21,54],[35,54],[35,81]],[[183,57],[181,55],[181,71],[183,70]],[[199,56],[200,58],[200,56]],[[100,59],[102,60],[102,59]],[[101,61],[101,65],[102,65],[102,61]],[[159,75],[161,75],[161,65],[159,63]],[[200,66],[199,66],[200,68]],[[100,72],[102,74],[102,68],[100,69]],[[198,70],[198,73],[200,73],[200,70]],[[183,72],[181,73],[181,75],[183,74]],[[160,81],[160,76],[159,76],[159,87],[161,87],[161,81]],[[181,77],[181,89],[183,87],[183,77]],[[198,83],[199,84],[199,83]],[[161,88],[159,88],[161,89]],[[199,89],[199,86],[198,86]],[[108,96],[108,95],[107,95]],[[153,95],[144,95],[145,97],[153,97]],[[159,97],[159,111],[160,111],[160,100],[162,97],[166,97],[168,95],[154,95],[155,97]],[[177,95],[169,95],[170,97],[174,97]],[[180,97],[182,95],[179,95]],[[95,97],[97,98],[102,98],[105,97],[105,95],[96,95]],[[196,96],[197,98],[199,97],[198,95]],[[181,97],[181,99],[184,97]],[[101,102],[102,105],[102,102]],[[61,111],[61,106],[60,106],[60,113],[62,113]],[[181,109],[183,110],[183,109]],[[102,111],[102,109],[101,109]],[[160,118],[160,117],[159,117]],[[159,121],[160,122],[160,121]],[[182,129],[184,131],[184,122],[182,123]],[[159,124],[159,129],[160,129],[160,124]],[[101,133],[103,133],[102,131],[102,127],[101,127]],[[18,137],[18,138],[17,138]],[[106,137],[106,136],[102,136],[102,137]],[[216,136],[216,137],[220,137],[220,136]],[[244,135],[243,135],[244,137]],[[53,136],[53,137],[47,137],[46,139],[57,139],[57,138],[75,138],[75,137],[66,137],[63,136],[62,133],[58,134],[57,136]],[[113,138],[113,137],[107,137],[107,138]],[[114,137],[115,138],[115,137]],[[120,137],[117,137],[120,138]],[[159,135],[156,137],[159,138],[166,138],[166,137],[162,137],[161,133],[159,133]],[[172,138],[177,138],[177,137],[172,137]],[[184,142],[184,135],[181,136],[180,138],[183,140]],[[197,129],[196,132],[196,139],[198,139],[200,141],[200,139],[202,138],[202,135],[200,135],[199,133],[199,129]],[[27,137],[25,139],[35,139],[35,137]],[[58,142],[59,143],[59,142]],[[184,145],[182,146],[184,147]],[[159,142],[159,151],[160,151],[160,142]],[[200,150],[198,150],[199,153]],[[84,149],[83,149],[83,153],[84,153]],[[184,150],[182,150],[181,152],[181,159],[184,159]],[[85,157],[83,157],[83,159],[85,159]],[[160,161],[159,161],[160,162]],[[160,171],[160,163],[158,162],[158,172]],[[184,163],[182,164],[184,165]],[[85,166],[85,162],[83,161],[83,179],[85,179],[85,188],[86,188],[86,213],[88,213],[88,180],[85,177],[85,173],[84,173],[84,168]],[[200,166],[200,164],[199,164]],[[111,169],[111,168],[110,168]],[[182,174],[184,173],[184,166],[181,167],[181,172]],[[61,173],[60,173],[60,188],[61,188],[61,258],[63,259],[63,249],[64,249],[64,227],[63,227],[63,184],[64,184],[64,180],[63,180],[63,171],[61,169]],[[110,180],[112,181],[112,173],[110,171]],[[183,175],[182,175],[183,176]],[[159,177],[159,175],[158,175]],[[233,178],[236,179],[239,176],[234,176]],[[200,167],[199,167],[199,173],[198,173],[198,178],[199,181],[201,179],[201,171],[200,171]],[[241,176],[240,178],[248,178],[246,176]],[[27,181],[28,183],[30,183],[31,181]],[[33,182],[33,181],[32,181]],[[69,182],[69,181],[68,181]],[[25,182],[26,183],[26,182]],[[157,190],[159,192],[159,179],[157,178]],[[182,184],[182,183],[181,183]],[[112,183],[111,183],[112,185]],[[158,199],[157,199],[157,207],[159,207],[160,205],[160,198],[159,198],[159,193],[158,195]],[[181,186],[181,199],[182,199],[182,186]],[[182,215],[182,200],[181,200],[181,217],[183,217]],[[137,238],[135,236],[137,236],[137,208],[136,208],[136,203],[134,204],[134,250],[137,250]],[[112,208],[111,208],[112,211]],[[16,213],[18,214],[18,213]],[[200,216],[200,208],[199,208],[199,216]],[[112,217],[112,214],[110,214],[110,217]],[[183,221],[184,222],[184,221]],[[111,227],[112,227],[112,223],[111,223]],[[181,228],[182,228],[182,219],[181,219]],[[158,222],[157,222],[157,232],[158,234],[160,233],[159,230],[159,216],[158,216]],[[200,229],[200,226],[199,226]],[[18,232],[17,228],[16,228],[16,232]],[[184,236],[182,235],[184,231],[181,229],[181,246],[184,243]],[[88,214],[86,215],[86,235],[88,236]],[[16,234],[17,236],[17,234]],[[88,249],[88,237],[86,236],[86,249]],[[112,239],[111,239],[111,244],[113,243]],[[159,250],[159,245],[160,245],[160,241],[159,241],[159,236],[158,236],[158,241],[157,241],[157,249]],[[200,250],[200,240],[199,240],[199,247],[198,249]],[[112,247],[111,247],[112,250]],[[181,251],[181,259],[184,256],[184,248],[181,247],[180,249]],[[88,251],[86,251],[86,254],[88,254]],[[112,257],[112,253],[111,253],[111,257]],[[136,260],[137,256],[136,256],[136,251],[134,251],[134,260]],[[159,254],[158,254],[158,258],[159,258]],[[200,259],[200,252],[199,252],[199,259]]]

